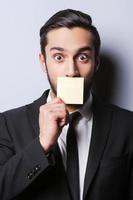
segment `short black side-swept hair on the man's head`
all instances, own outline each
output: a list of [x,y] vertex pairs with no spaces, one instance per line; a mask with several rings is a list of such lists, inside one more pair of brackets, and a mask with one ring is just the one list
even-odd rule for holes
[[81,27],[92,33],[94,36],[95,56],[100,50],[100,36],[95,26],[92,25],[91,17],[78,10],[66,9],[55,13],[40,29],[41,52],[45,55],[45,46],[47,45],[47,33],[58,28]]

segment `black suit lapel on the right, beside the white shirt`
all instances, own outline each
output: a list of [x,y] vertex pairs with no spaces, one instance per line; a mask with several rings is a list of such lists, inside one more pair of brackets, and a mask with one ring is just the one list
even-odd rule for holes
[[103,106],[102,104],[96,103],[94,100],[93,128],[85,175],[83,199],[85,199],[87,195],[89,186],[92,183],[104,153],[111,125],[111,116],[111,109],[106,108],[106,106]]

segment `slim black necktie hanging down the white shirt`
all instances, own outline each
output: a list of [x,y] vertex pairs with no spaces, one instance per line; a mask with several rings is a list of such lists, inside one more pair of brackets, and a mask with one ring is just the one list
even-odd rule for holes
[[67,180],[73,200],[79,200],[79,160],[74,122],[80,113],[70,115],[69,128],[67,132]]

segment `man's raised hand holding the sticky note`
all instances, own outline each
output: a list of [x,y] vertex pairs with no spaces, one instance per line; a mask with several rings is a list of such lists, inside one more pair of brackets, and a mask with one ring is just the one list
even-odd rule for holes
[[39,113],[39,139],[44,151],[48,153],[57,143],[64,125],[67,124],[68,111],[60,98],[42,105]]

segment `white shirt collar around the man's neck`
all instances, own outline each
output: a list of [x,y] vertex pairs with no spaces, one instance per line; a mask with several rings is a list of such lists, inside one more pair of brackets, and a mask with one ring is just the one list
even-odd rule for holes
[[[51,100],[52,100],[52,98],[51,98],[51,90],[50,90],[48,93],[48,97],[47,97],[47,103],[50,102]],[[80,112],[82,117],[85,117],[88,121],[92,117],[92,101],[93,101],[93,96],[90,92],[89,98],[87,99],[85,104],[77,110]]]

